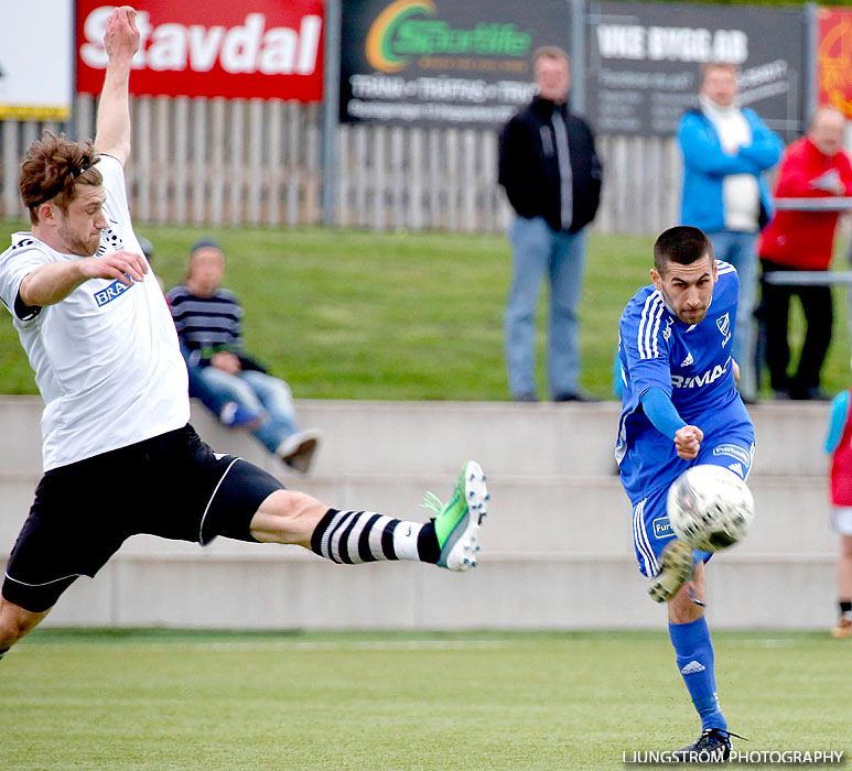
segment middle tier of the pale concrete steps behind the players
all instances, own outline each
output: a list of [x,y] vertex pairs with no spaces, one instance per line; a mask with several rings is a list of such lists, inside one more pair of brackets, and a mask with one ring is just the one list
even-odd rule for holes
[[[9,552],[32,501],[37,477],[0,475],[0,552]],[[423,521],[420,507],[425,490],[447,499],[454,475],[343,474],[299,479],[299,489],[341,509],[370,510],[400,519]],[[743,555],[826,555],[837,550],[828,526],[826,482],[815,477],[751,482],[756,518],[747,539],[736,546]],[[629,556],[633,554],[630,507],[615,477],[488,476],[492,495],[482,545],[487,552],[510,555],[573,554]],[[254,544],[219,539],[217,553],[242,554]],[[130,553],[190,553],[192,544],[137,536]]]

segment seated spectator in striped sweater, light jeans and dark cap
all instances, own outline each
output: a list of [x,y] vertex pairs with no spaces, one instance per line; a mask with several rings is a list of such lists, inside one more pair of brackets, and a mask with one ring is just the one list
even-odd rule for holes
[[220,286],[224,272],[225,253],[218,241],[201,239],[193,245],[184,284],[166,294],[187,369],[219,403],[234,402],[241,412],[223,415],[209,403],[209,394],[202,400],[205,405],[220,417],[259,416],[252,434],[270,453],[305,474],[320,435],[299,431],[290,387],[244,350],[242,306]]

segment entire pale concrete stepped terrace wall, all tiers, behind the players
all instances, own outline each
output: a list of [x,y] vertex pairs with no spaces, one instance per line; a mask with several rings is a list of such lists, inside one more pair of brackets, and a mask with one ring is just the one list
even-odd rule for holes
[[[643,629],[666,610],[636,569],[629,504],[615,476],[615,403],[302,401],[324,432],[315,473],[282,476],[335,506],[423,519],[425,490],[447,496],[461,463],[488,474],[492,509],[479,567],[344,567],[296,547],[217,540],[201,549],[130,539],[47,619],[69,626],[266,629]],[[0,398],[0,560],[40,477],[41,402]],[[753,408],[758,449],[748,539],[716,555],[708,613],[716,628],[824,629],[833,620],[837,536],[828,528],[824,404]],[[277,475],[280,464],[204,411],[217,450]],[[367,442],[365,437],[369,437]],[[117,496],[116,515],[121,515]],[[75,512],[69,511],[68,517]]]

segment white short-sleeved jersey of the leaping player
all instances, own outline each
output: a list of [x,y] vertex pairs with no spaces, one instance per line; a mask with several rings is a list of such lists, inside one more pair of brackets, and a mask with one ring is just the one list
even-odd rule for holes
[[[141,254],[121,163],[101,155],[97,167],[109,222],[97,253],[126,249]],[[45,471],[180,428],[190,420],[186,367],[153,271],[131,286],[90,279],[65,300],[29,315],[17,302],[21,282],[35,268],[77,259],[30,232],[14,234],[12,246],[0,254],[0,300],[14,318],[44,400]]]

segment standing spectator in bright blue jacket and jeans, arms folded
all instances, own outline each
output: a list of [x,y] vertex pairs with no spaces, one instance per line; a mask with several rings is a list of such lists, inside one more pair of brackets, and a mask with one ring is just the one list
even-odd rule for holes
[[758,231],[769,221],[769,188],[762,174],[780,159],[784,144],[757,113],[737,104],[737,68],[704,65],[699,107],[680,120],[683,153],[681,222],[700,228],[715,258],[740,274],[731,354],[740,365],[740,393],[756,399],[754,302],[757,289]]

